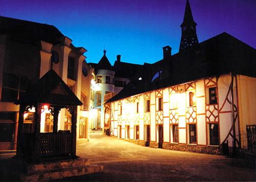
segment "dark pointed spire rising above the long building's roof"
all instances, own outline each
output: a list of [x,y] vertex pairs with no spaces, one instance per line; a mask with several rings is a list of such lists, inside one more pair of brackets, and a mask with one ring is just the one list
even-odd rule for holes
[[196,33],[197,23],[194,21],[189,2],[186,2],[185,14],[181,27],[180,50],[198,45]]

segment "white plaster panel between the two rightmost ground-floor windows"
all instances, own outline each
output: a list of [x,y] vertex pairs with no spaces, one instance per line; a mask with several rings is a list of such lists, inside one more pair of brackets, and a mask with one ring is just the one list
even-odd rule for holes
[[197,115],[197,143],[199,145],[206,145],[206,125],[205,115]]

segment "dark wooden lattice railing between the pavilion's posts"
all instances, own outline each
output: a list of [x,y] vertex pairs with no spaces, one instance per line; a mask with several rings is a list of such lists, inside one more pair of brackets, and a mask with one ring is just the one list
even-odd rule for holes
[[71,133],[39,133],[37,135],[37,153],[40,155],[41,158],[71,154]]

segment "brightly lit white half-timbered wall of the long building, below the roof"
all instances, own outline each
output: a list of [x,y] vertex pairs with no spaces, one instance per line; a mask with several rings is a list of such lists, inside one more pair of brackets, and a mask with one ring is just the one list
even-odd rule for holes
[[[105,122],[110,121],[110,135],[143,146],[220,153],[219,145],[233,141],[230,86],[231,75],[224,74],[133,95],[106,103]],[[234,77],[236,138],[242,148],[246,124],[255,124],[255,88],[256,78]]]

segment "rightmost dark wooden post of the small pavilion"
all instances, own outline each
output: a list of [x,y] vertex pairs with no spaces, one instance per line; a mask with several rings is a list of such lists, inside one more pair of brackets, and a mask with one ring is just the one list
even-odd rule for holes
[[77,106],[73,106],[72,112],[72,126],[71,126],[71,136],[72,136],[72,157],[76,158],[76,122],[77,122]]

